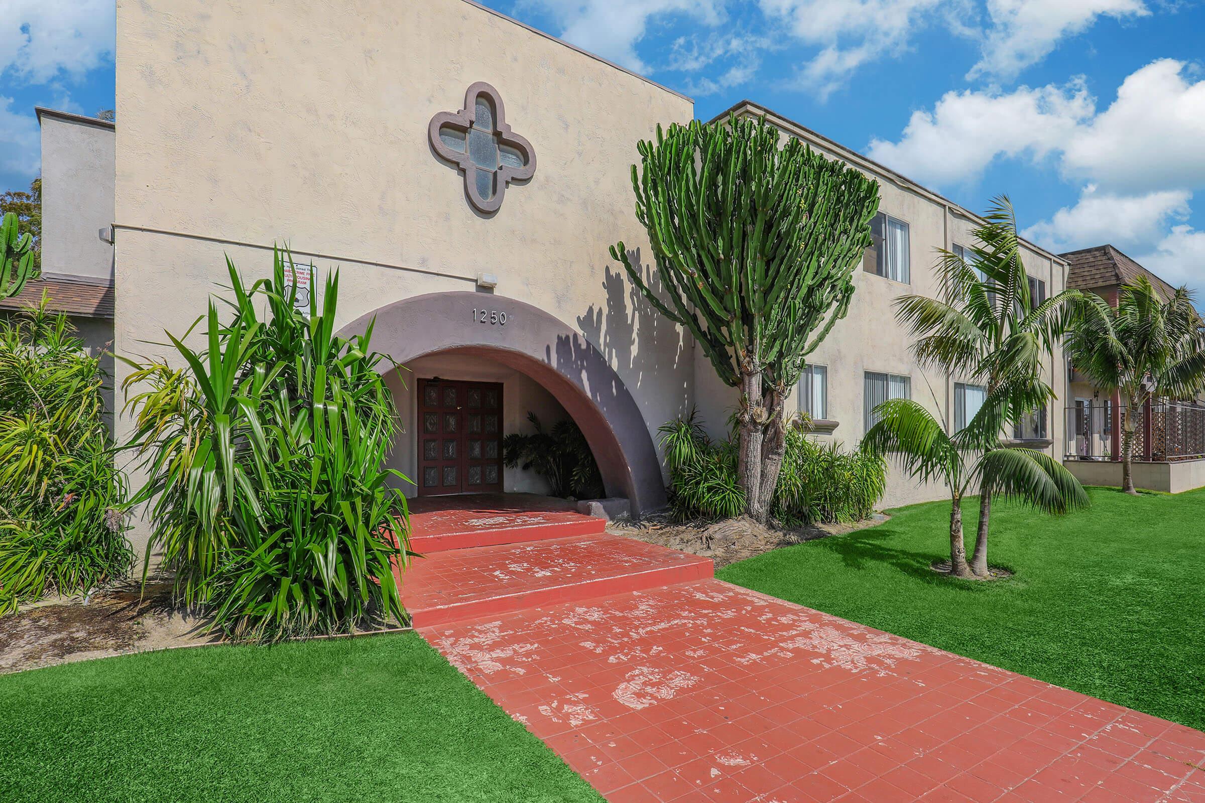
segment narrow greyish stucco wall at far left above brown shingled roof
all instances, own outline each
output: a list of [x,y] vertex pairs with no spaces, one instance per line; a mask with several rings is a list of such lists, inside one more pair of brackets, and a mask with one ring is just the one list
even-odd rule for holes
[[42,138],[42,273],[107,284],[113,247],[100,230],[113,222],[117,165],[113,125],[40,112]]

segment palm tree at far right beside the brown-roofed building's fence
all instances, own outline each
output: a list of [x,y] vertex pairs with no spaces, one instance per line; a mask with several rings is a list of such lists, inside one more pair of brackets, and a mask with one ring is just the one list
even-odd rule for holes
[[1094,294],[1068,338],[1071,360],[1101,390],[1125,401],[1122,490],[1136,494],[1130,466],[1139,411],[1158,396],[1191,398],[1205,384],[1201,319],[1186,287],[1166,301],[1145,276],[1122,287],[1117,308]]

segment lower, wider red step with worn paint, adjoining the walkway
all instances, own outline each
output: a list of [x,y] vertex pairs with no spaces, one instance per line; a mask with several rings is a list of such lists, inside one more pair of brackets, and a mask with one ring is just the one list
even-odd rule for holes
[[606,533],[437,551],[411,562],[401,597],[416,627],[712,577],[707,557]]

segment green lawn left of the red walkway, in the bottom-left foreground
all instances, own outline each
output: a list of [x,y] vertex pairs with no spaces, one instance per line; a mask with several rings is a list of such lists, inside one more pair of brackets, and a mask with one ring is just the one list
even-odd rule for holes
[[417,633],[5,675],[0,722],[0,801],[601,801]]

